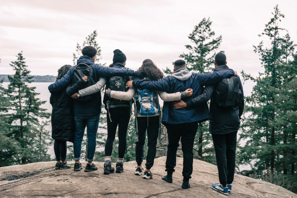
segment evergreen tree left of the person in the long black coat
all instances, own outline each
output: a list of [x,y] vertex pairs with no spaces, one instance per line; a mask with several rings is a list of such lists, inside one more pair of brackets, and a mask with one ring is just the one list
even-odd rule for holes
[[41,152],[44,156],[41,160],[49,160],[49,155],[46,153],[48,143],[44,140],[42,142],[44,145],[38,147],[36,142],[42,126],[40,123],[49,118],[46,109],[40,107],[46,101],[40,101],[35,87],[29,87],[33,76],[29,76],[30,71],[27,69],[22,52],[10,66],[15,71],[15,75],[8,76],[10,84],[7,93],[11,107],[7,116],[11,126],[10,137],[17,141],[20,147],[13,158],[17,163],[26,164],[38,161],[40,157],[36,153]]

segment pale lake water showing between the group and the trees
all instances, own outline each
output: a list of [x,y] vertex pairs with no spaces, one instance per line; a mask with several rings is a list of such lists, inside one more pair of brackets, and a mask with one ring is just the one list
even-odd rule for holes
[[[3,83],[3,86],[5,88],[7,88],[9,83],[5,82]],[[51,110],[52,110],[52,106],[50,104],[50,92],[48,91],[48,85],[50,85],[51,83],[31,83],[30,86],[32,87],[36,87],[35,91],[37,93],[40,93],[40,95],[38,95],[38,97],[42,100],[42,101],[46,101],[45,104],[42,104],[42,108],[45,108],[47,110],[47,112],[51,113]],[[252,86],[254,85],[254,83],[252,83],[251,81],[248,81],[246,83],[243,84],[244,86],[244,91],[245,91],[245,95],[248,96],[251,94],[251,91],[252,91]],[[163,105],[163,101],[160,100],[160,104]],[[51,125],[49,124],[48,126],[46,126],[46,129],[51,133]],[[99,129],[99,130],[103,130],[103,129]],[[238,132],[238,138],[239,138],[239,135],[240,135],[240,130]],[[240,144],[244,144],[244,142],[239,142]],[[100,149],[100,148],[99,148]],[[54,153],[54,150],[53,150],[53,145],[50,146],[48,148],[48,153],[50,154],[51,158],[54,158],[55,157],[55,153]],[[239,167],[239,170],[249,170],[250,169],[250,166],[243,166],[241,165]]]

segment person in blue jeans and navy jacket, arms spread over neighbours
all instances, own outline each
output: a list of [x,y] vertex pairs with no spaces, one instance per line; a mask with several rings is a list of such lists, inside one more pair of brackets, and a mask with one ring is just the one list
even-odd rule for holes
[[[100,77],[111,77],[111,76],[136,76],[143,78],[141,72],[133,71],[130,69],[116,69],[104,67],[95,64],[97,49],[92,46],[86,46],[82,49],[82,54],[77,64],[84,63],[92,67],[93,69],[93,80],[97,82]],[[75,67],[72,66],[69,71],[58,81],[48,86],[50,92],[59,91],[65,89],[72,83],[72,75]],[[75,97],[79,97],[75,94]],[[99,124],[99,117],[101,112],[101,94],[97,92],[94,94],[94,99],[88,102],[82,102],[79,100],[74,101],[74,119],[75,119],[75,136],[73,142],[74,151],[74,171],[80,171],[82,164],[80,163],[81,154],[81,142],[83,140],[83,134],[87,127],[88,136],[88,149],[87,149],[87,165],[85,171],[90,172],[97,170],[97,167],[93,164],[94,153],[96,149],[96,134]]]

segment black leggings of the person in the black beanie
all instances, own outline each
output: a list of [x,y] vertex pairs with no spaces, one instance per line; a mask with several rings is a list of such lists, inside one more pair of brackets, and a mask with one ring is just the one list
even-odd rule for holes
[[110,118],[107,112],[107,139],[105,142],[105,156],[111,156],[113,141],[116,138],[116,128],[119,125],[119,158],[124,158],[126,151],[127,129],[131,117],[130,107],[114,107],[109,110]]

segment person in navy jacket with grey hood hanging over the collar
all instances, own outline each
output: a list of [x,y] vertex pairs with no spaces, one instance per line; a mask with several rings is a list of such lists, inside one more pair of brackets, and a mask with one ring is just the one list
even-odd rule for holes
[[[211,85],[223,78],[236,75],[232,69],[214,72],[211,74],[191,73],[186,67],[186,62],[177,60],[174,62],[173,74],[157,81],[133,80],[127,83],[128,87],[147,88],[150,90],[166,91],[175,93],[192,88],[193,94],[190,97],[183,98],[184,102],[191,100],[202,94],[204,85]],[[172,175],[176,166],[176,151],[181,139],[183,151],[183,182],[181,187],[188,189],[190,187],[189,179],[193,171],[193,146],[195,135],[198,129],[198,123],[209,119],[208,105],[202,103],[197,108],[192,109],[174,109],[172,102],[164,102],[162,123],[166,126],[168,133],[168,150],[166,158],[167,175],[162,177],[169,183],[172,183]]]

